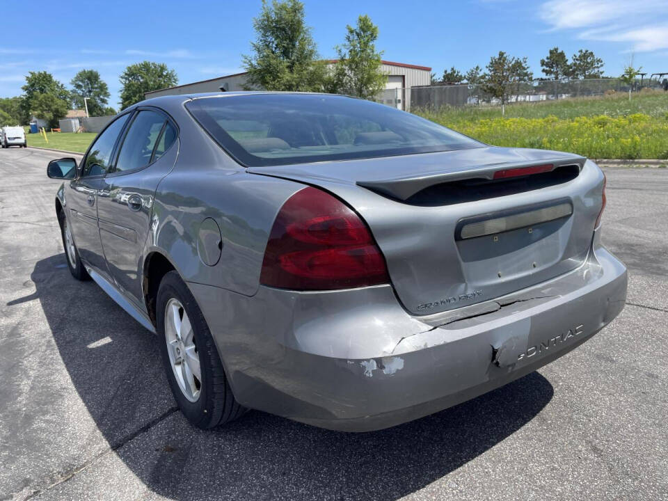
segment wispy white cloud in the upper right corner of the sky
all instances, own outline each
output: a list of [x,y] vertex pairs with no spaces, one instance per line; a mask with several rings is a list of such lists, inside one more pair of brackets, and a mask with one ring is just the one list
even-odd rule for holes
[[578,38],[626,42],[629,51],[668,47],[666,0],[549,0],[539,17],[552,30],[582,30]]

